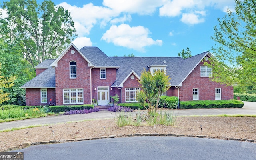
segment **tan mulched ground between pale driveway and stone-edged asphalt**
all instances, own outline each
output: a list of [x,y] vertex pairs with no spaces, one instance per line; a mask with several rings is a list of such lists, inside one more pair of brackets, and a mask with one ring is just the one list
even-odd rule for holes
[[[96,138],[101,136],[135,133],[176,135],[204,135],[206,138],[243,138],[256,140],[256,118],[248,117],[178,117],[175,126],[124,126],[119,128],[114,119],[90,120],[66,124],[27,128],[0,133],[0,151],[26,142]],[[202,125],[202,132],[200,125]],[[106,134],[104,131],[106,128]],[[54,131],[54,135],[53,135]]]

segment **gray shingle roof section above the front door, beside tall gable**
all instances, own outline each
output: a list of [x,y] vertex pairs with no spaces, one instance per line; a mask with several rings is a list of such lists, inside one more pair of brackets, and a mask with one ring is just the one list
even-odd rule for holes
[[119,66],[113,62],[105,53],[98,47],[83,47],[80,52],[97,67],[116,67]]

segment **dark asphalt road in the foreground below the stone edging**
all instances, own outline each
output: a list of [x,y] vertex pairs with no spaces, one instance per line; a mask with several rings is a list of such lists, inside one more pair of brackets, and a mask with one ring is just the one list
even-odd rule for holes
[[256,160],[255,143],[192,137],[108,138],[13,152],[24,152],[24,160]]

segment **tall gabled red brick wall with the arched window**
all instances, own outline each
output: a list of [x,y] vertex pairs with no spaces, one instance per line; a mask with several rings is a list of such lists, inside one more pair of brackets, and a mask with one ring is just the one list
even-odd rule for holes
[[[55,68],[56,105],[63,104],[64,88],[83,88],[84,104],[90,104],[90,67],[88,62],[73,47],[58,61]],[[76,79],[69,78],[70,61],[76,61]]]

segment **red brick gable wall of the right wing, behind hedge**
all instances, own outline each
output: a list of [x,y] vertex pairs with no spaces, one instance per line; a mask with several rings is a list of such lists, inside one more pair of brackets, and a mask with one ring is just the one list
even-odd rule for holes
[[199,100],[215,100],[215,88],[221,88],[222,100],[233,99],[232,86],[220,85],[209,81],[208,77],[200,76],[200,66],[203,66],[203,64],[203,62],[200,62],[182,83],[182,87],[180,87],[180,100],[193,100],[193,88],[199,89]]

